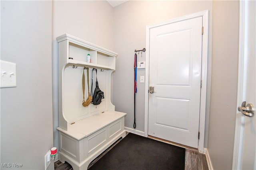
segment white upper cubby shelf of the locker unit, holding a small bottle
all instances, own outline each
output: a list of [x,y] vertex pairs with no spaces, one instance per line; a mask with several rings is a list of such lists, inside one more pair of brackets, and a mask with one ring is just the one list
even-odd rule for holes
[[[79,64],[107,70],[115,70],[117,53],[104,49],[69,34],[56,38],[60,49],[63,64]],[[90,54],[91,63],[87,63],[87,55]]]

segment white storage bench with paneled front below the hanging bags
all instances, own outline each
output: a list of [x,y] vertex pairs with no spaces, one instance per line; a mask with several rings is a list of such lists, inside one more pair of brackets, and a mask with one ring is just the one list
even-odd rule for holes
[[60,132],[59,160],[67,161],[73,169],[87,169],[92,160],[125,137],[124,116],[118,111],[104,111],[69,125]]

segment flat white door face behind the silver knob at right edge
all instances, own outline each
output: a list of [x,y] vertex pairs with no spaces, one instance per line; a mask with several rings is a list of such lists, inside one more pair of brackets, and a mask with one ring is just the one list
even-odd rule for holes
[[[245,116],[242,151],[243,170],[256,170],[256,2],[248,1],[248,65],[246,80],[246,105],[252,104],[254,116]],[[246,50],[246,49],[245,49]]]

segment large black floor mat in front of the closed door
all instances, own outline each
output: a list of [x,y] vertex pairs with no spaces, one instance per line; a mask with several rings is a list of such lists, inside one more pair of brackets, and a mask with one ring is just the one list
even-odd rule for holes
[[185,149],[129,133],[89,170],[184,170]]

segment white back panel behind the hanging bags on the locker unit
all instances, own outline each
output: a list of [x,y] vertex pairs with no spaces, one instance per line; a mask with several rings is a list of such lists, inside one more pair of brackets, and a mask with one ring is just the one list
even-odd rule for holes
[[[92,116],[94,114],[101,113],[107,110],[107,96],[108,96],[108,88],[107,88],[107,72],[98,71],[98,84],[100,90],[104,92],[104,99],[99,105],[90,104],[88,107],[82,106],[83,100],[83,92],[82,92],[82,72],[83,67],[78,66],[77,68],[73,68],[72,64],[68,64],[64,69],[63,74],[63,115],[65,119],[72,123],[86,117]],[[93,75],[93,87],[92,87],[92,68],[89,68],[89,90],[91,94],[91,90],[94,92],[96,87],[96,72],[94,71]],[[88,87],[87,87],[87,75],[85,70],[85,99],[88,97]],[[92,88],[91,88],[92,87]]]

